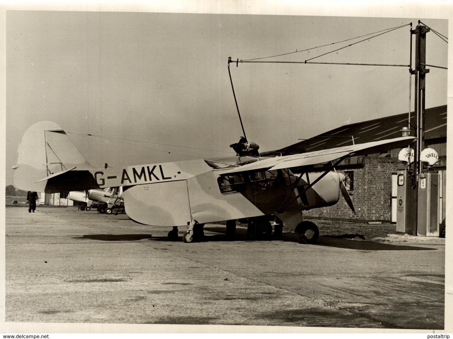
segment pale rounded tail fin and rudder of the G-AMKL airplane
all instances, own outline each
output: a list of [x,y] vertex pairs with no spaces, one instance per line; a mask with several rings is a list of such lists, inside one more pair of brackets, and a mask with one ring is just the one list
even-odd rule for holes
[[95,169],[77,150],[66,132],[51,121],[29,127],[22,137],[14,168],[14,185],[26,191],[44,192],[52,174],[77,168]]

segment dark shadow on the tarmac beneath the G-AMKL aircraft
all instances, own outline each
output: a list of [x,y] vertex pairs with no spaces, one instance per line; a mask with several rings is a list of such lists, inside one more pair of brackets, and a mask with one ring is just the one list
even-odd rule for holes
[[[205,235],[202,242],[216,242],[216,241],[234,241],[234,242],[246,242],[254,241],[247,236],[245,229],[236,229],[236,234],[234,239],[229,239],[226,237],[225,230],[219,228],[204,228],[208,232],[216,232],[222,234],[213,234]],[[436,250],[436,248],[428,247],[416,247],[416,246],[407,246],[407,245],[392,245],[380,242],[371,242],[363,240],[350,240],[347,237],[350,236],[345,234],[338,238],[337,236],[320,236],[318,242],[314,245],[301,244],[301,246],[328,246],[328,247],[337,247],[337,248],[347,248],[358,251],[429,251]],[[88,234],[83,235],[82,237],[74,237],[73,239],[91,239],[91,240],[101,240],[101,241],[138,241],[143,239],[153,240],[153,241],[164,241],[171,242],[167,236],[154,237],[152,234]],[[178,241],[183,241],[183,237],[178,237]],[[276,238],[270,236],[267,239],[260,239],[259,241],[285,241],[285,242],[298,242],[294,237],[294,233],[283,233],[281,238]]]

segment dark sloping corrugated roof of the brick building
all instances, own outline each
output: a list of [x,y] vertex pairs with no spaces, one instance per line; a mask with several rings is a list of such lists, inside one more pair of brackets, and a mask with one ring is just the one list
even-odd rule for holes
[[[397,114],[384,118],[344,125],[310,139],[284,147],[280,150],[263,152],[261,155],[293,154],[323,150],[344,145],[356,144],[401,136],[401,129],[407,126],[408,114]],[[411,112],[410,123],[415,125],[415,113]],[[411,136],[414,136],[414,129]],[[425,140],[447,136],[447,105],[425,109]]]

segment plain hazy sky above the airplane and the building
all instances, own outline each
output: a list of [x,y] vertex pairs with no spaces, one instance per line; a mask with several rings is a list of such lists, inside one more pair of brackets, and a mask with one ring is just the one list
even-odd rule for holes
[[[7,11],[6,184],[38,121],[72,132],[95,166],[234,155],[229,145],[243,134],[229,56],[295,52],[419,19],[448,37],[447,20],[423,17]],[[409,29],[313,61],[408,64]],[[361,39],[264,60],[304,61]],[[447,67],[447,48],[429,33],[426,63]],[[234,63],[231,76],[247,138],[261,151],[409,108],[405,67]],[[447,104],[446,70],[430,67],[426,86],[427,108]]]

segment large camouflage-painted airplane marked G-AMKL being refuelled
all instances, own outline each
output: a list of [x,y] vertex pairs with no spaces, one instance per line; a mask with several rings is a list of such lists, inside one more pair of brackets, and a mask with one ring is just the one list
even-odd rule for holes
[[[24,133],[13,166],[14,184],[45,193],[122,187],[129,218],[173,227],[169,240],[177,240],[178,227],[183,226],[188,226],[184,242],[200,240],[204,224],[219,221],[226,221],[226,234],[234,235],[238,219],[247,219],[255,234],[268,234],[267,216],[274,214],[299,242],[315,243],[319,229],[304,220],[304,210],[332,206],[340,192],[354,210],[345,177],[334,171],[335,166],[348,156],[403,148],[414,140],[399,137],[276,157],[246,155],[96,168],[58,124],[42,121]],[[310,173],[313,165],[329,162],[323,173]],[[291,171],[294,168],[301,169],[299,176]]]

